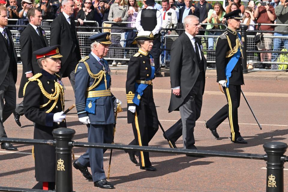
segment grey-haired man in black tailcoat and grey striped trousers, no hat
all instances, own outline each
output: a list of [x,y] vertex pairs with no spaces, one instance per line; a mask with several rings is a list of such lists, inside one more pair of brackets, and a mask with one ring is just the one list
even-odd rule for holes
[[207,62],[201,40],[195,37],[199,33],[199,18],[194,15],[186,16],[184,29],[185,32],[171,47],[172,93],[168,109],[169,113],[179,110],[181,119],[166,134],[174,146],[182,134],[184,149],[197,149],[193,131],[201,113]]

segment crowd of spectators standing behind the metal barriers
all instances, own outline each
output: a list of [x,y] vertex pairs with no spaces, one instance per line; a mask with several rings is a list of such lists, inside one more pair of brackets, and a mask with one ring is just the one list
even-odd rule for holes
[[[96,21],[99,26],[102,26],[102,23],[105,21],[114,21],[117,23],[104,23],[104,27],[113,27],[113,29],[103,29],[103,32],[127,32],[129,29],[124,28],[135,28],[135,23],[127,24],[122,22],[135,22],[139,11],[147,7],[146,0],[85,0],[84,2],[83,0],[74,0],[74,2],[74,19],[78,21],[79,26],[90,27],[78,28],[78,31],[81,32],[95,31],[95,29],[93,29],[95,23],[85,21]],[[62,12],[61,0],[40,0],[38,4],[35,4],[33,0],[22,0],[21,2],[9,0],[5,1],[4,5],[7,7],[9,19],[25,19],[27,17],[27,11],[31,7],[38,7],[38,10],[42,13],[43,20],[54,19]],[[201,29],[206,29],[206,31],[201,31],[199,35],[208,35],[208,37],[205,38],[208,42],[205,45],[208,50],[214,50],[215,46],[214,42],[216,38],[211,36],[220,35],[223,29],[226,28],[226,26],[224,26],[226,25],[226,20],[223,16],[233,10],[240,9],[241,16],[243,16],[242,23],[248,26],[248,35],[258,35],[262,33],[264,36],[259,43],[248,45],[248,51],[255,49],[263,51],[258,54],[261,63],[253,66],[250,62],[248,67],[249,69],[253,67],[270,69],[271,65],[264,64],[267,63],[264,61],[277,61],[279,53],[271,53],[269,51],[281,51],[281,47],[284,47],[286,50],[288,49],[288,39],[274,38],[273,40],[273,38],[267,37],[273,35],[288,36],[284,33],[288,31],[288,3],[285,2],[285,0],[262,0],[255,4],[255,1],[250,0],[248,3],[246,2],[246,5],[247,7],[241,3],[241,0],[223,0],[223,3],[214,2],[212,4],[205,0],[199,0],[196,1],[196,3],[189,0],[164,0],[161,4],[155,3],[154,9],[161,11],[162,28],[182,29],[185,16],[195,15],[199,17],[199,22],[202,23]],[[16,24],[16,22],[10,24]],[[50,25],[50,22],[43,22],[43,25],[46,24]],[[272,24],[286,24],[286,26],[280,25],[275,27]],[[255,30],[265,32],[255,32]],[[100,31],[102,30],[100,29]],[[175,35],[177,33],[181,35],[182,31],[161,31],[162,35],[170,35],[171,32]],[[211,51],[210,56],[213,57],[212,52],[213,51]],[[209,51],[207,55],[209,55]],[[257,57],[256,54],[252,52],[248,52],[247,55],[249,60]],[[114,64],[115,63],[121,64],[121,62],[118,61],[114,61]],[[275,67],[277,66],[272,66],[274,69]]]

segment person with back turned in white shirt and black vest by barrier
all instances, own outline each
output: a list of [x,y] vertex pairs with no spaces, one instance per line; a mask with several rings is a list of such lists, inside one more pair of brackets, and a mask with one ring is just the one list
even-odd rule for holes
[[155,39],[153,41],[153,48],[150,53],[153,56],[155,62],[155,76],[161,77],[162,75],[159,73],[159,70],[161,55],[160,29],[162,26],[162,16],[159,10],[154,9],[155,0],[147,0],[146,4],[148,7],[139,11],[135,21],[135,26],[138,32],[150,31],[153,33]]

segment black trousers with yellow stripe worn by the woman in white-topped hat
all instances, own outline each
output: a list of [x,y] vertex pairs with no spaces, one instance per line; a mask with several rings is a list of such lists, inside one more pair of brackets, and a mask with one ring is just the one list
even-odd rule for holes
[[[158,131],[158,116],[153,99],[152,86],[144,91],[139,106],[136,106],[135,119],[132,123],[135,139],[129,145],[148,146],[150,140]],[[133,152],[139,157],[140,167],[149,167],[149,152]]]

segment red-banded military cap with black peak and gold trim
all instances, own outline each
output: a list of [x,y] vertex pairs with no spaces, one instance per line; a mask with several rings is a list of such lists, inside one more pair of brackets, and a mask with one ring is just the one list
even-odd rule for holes
[[41,58],[60,58],[63,57],[59,53],[60,45],[54,45],[49,47],[44,47],[34,51],[33,54],[36,55],[37,59]]

